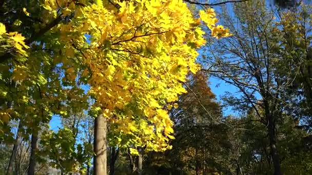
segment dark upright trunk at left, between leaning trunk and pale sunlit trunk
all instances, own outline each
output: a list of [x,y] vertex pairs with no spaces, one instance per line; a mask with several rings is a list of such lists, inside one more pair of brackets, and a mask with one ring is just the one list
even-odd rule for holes
[[36,167],[36,158],[35,152],[37,150],[37,140],[38,140],[38,132],[33,131],[31,135],[31,150],[30,150],[30,159],[29,159],[29,167],[28,167],[28,175],[35,174],[35,167]]

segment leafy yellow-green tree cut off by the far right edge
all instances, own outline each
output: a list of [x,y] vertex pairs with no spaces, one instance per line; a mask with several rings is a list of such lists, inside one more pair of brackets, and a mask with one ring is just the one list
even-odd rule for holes
[[[296,96],[291,101],[296,105],[288,107],[288,113],[305,123],[311,129],[311,41],[312,16],[310,6],[302,5],[298,8],[280,11],[279,25],[276,30],[281,34],[281,61],[279,62],[279,76],[285,81],[291,81],[290,90],[285,93]],[[291,74],[286,74],[286,68]],[[290,99],[291,100],[291,99]],[[298,107],[297,107],[298,106]]]

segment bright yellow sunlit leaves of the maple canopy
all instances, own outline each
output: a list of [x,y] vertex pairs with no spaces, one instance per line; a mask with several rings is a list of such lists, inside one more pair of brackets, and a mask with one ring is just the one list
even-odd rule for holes
[[[194,18],[180,0],[95,2],[44,1],[46,20],[70,16],[50,31],[59,35],[55,45],[62,46],[53,54],[54,63],[67,68],[64,80],[75,81],[77,70],[83,72],[79,78],[88,79],[94,106],[116,124],[113,132],[120,138],[131,136],[126,137],[131,138],[128,146],[170,148],[172,121],[164,106],[186,92],[181,82],[189,71],[199,69],[196,49],[205,44],[201,20],[216,38],[229,36],[228,30],[216,26],[213,9],[200,11],[201,18]],[[7,34],[0,24],[0,36],[4,35],[11,38],[17,52],[26,54],[22,35]],[[82,65],[77,67],[74,61]],[[21,71],[21,67],[15,69],[18,80],[25,78]]]

